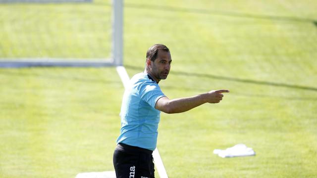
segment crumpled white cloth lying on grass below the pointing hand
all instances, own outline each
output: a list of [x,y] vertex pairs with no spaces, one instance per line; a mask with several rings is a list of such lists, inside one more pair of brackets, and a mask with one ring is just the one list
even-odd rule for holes
[[245,144],[236,144],[233,147],[227,148],[225,150],[215,149],[213,154],[217,154],[222,158],[232,158],[238,156],[254,156],[255,151],[252,148],[248,148]]

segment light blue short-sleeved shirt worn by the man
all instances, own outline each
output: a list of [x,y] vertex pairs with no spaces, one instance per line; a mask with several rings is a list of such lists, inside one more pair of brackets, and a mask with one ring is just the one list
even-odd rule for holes
[[165,96],[152,77],[136,74],[125,89],[121,105],[121,134],[117,143],[149,150],[157,146],[159,114],[155,104]]

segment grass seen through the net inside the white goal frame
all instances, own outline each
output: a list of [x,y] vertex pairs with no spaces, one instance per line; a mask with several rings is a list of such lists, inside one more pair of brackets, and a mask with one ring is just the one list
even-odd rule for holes
[[110,57],[108,3],[8,3],[0,9],[0,57]]

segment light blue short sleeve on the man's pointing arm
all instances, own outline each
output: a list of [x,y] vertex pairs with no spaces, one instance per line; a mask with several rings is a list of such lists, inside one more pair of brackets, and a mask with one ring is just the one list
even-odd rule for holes
[[155,104],[159,98],[164,96],[165,95],[159,88],[159,85],[154,82],[143,84],[140,89],[141,99],[150,104],[153,108],[155,108]]

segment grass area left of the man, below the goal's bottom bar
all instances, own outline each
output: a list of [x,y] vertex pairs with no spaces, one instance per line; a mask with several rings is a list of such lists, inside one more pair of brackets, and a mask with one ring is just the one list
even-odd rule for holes
[[109,150],[123,92],[113,74],[110,68],[1,70],[0,177],[113,169]]

